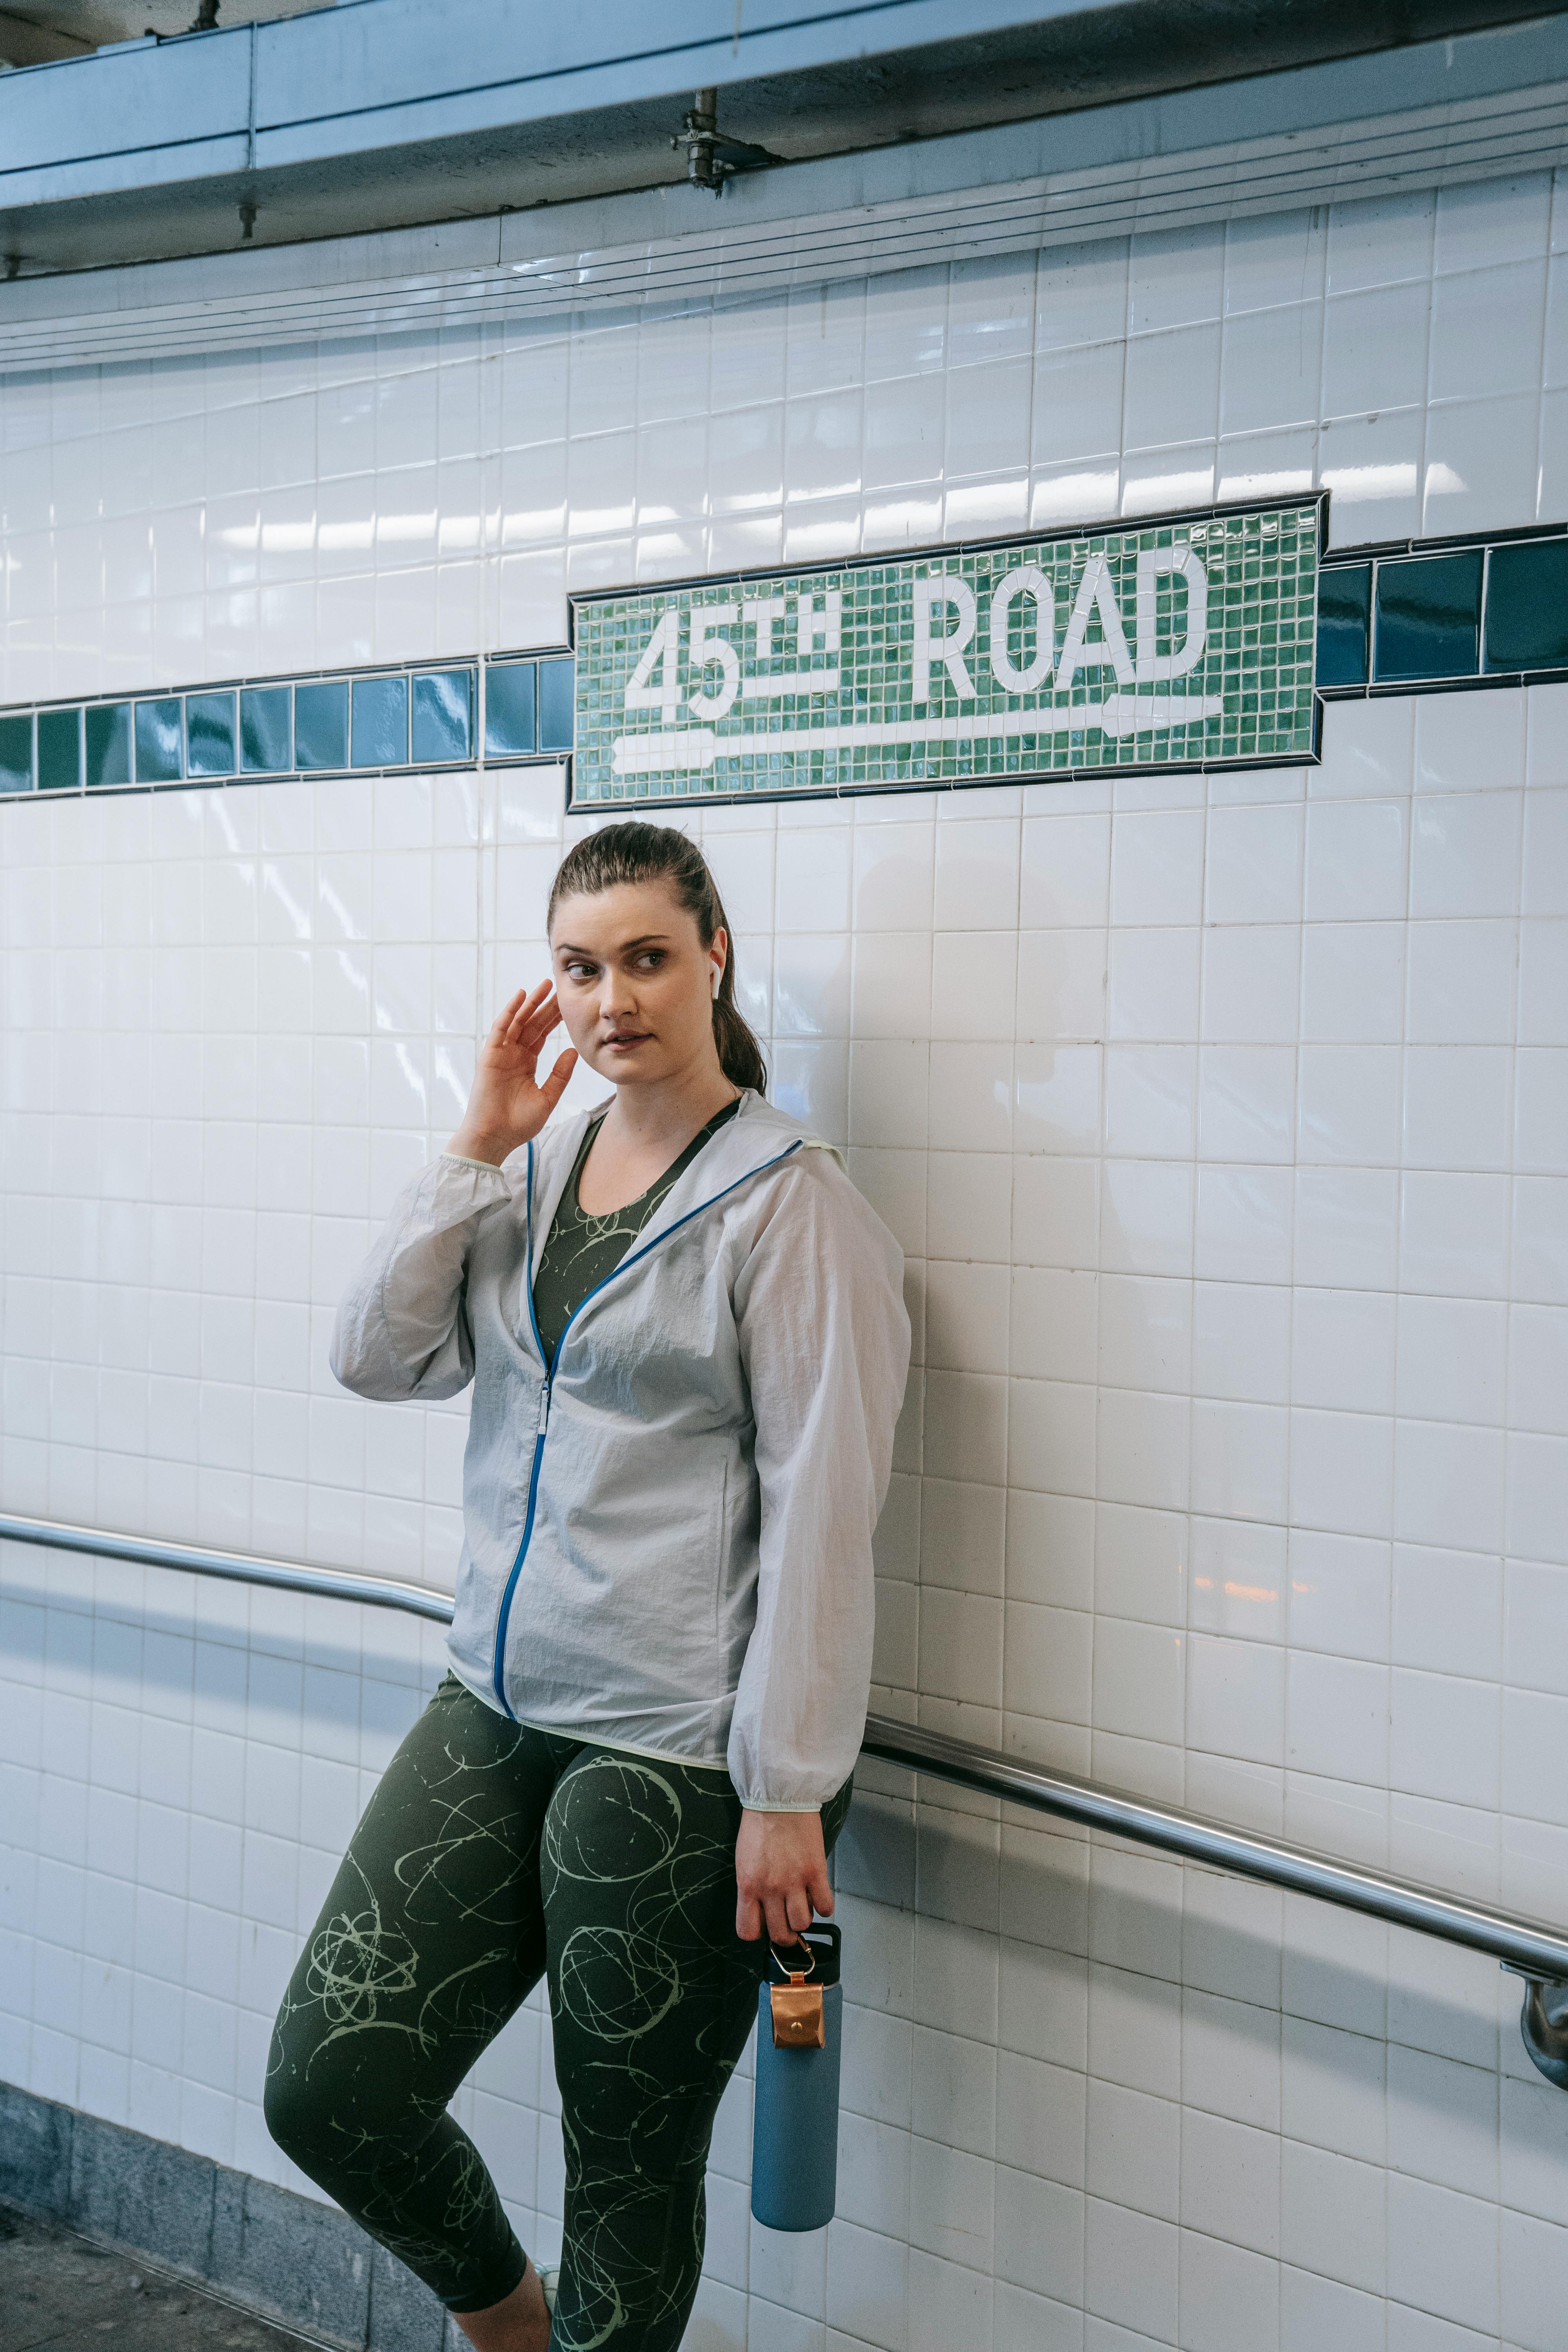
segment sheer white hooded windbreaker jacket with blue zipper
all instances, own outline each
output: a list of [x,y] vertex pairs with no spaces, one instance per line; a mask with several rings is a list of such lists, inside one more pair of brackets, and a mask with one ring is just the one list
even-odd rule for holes
[[331,1369],[383,1399],[475,1383],[449,1644],[470,1691],[809,1811],[865,1726],[903,1254],[835,1152],[745,1094],[545,1376],[534,1270],[588,1117],[498,1169],[433,1160],[339,1308]]

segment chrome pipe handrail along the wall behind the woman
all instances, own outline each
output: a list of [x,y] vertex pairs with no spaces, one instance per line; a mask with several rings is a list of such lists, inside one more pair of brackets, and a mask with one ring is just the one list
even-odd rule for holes
[[[303,1559],[219,1552],[200,1543],[158,1543],[150,1536],[120,1536],[99,1526],[68,1526],[61,1519],[24,1519],[9,1512],[0,1512],[0,1541],[38,1543],[99,1559],[127,1559],[153,1569],[179,1569],[188,1576],[223,1576],[282,1592],[367,1602],[374,1609],[402,1609],[440,1625],[451,1623],[451,1599],[444,1592],[386,1576],[364,1576],[357,1569],[317,1569]],[[1079,1780],[1074,1773],[1044,1771],[1039,1764],[1023,1764],[997,1748],[954,1740],[945,1731],[922,1731],[917,1724],[900,1724],[886,1715],[867,1715],[860,1752],[983,1797],[1001,1797],[1032,1813],[1051,1813],[1086,1830],[1105,1830],[1190,1863],[1206,1863],[1211,1870],[1225,1870],[1265,1886],[1284,1886],[1319,1903],[1363,1912],[1368,1919],[1387,1919],[1472,1952],[1488,1952],[1514,1976],[1526,1978],[1519,2020],[1523,2044],[1540,2072],[1568,2089],[1568,1929],[1495,1910],[1490,1903],[1472,1903],[1465,1896],[1420,1886],[1361,1863],[1340,1863],[1309,1846],[1291,1846],[1276,1837],[1237,1830],[1173,1804],[1150,1804],[1145,1797]]]

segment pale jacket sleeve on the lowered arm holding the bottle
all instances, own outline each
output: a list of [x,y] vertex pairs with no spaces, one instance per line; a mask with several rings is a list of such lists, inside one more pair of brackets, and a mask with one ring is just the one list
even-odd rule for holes
[[903,1251],[813,1150],[780,1181],[733,1296],[762,1566],[729,1776],[743,1804],[804,1813],[844,1785],[865,1731],[872,1531],[910,1371]]

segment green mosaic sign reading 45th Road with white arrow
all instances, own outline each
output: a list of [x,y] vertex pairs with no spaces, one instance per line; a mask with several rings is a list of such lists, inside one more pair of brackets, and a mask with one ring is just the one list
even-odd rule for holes
[[1321,506],[576,597],[574,807],[1314,757]]

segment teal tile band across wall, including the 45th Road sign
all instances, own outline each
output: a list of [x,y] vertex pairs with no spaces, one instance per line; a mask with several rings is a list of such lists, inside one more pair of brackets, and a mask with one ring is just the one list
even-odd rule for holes
[[[578,597],[576,654],[522,649],[21,703],[0,710],[0,795],[571,753],[576,809],[1251,767],[1316,757],[1314,701],[1568,677],[1568,527],[1319,557],[1319,520],[1316,499],[1276,501]],[[1201,564],[1206,602],[1204,647],[1190,666],[1187,557]],[[1103,572],[1088,576],[1095,560]],[[929,583],[924,647],[914,644],[919,581]],[[1041,663],[1046,607],[1053,661]],[[1173,675],[1140,677],[1147,663]],[[376,691],[388,682],[397,710]],[[360,734],[353,710],[367,722]],[[663,748],[670,736],[675,760]]]

